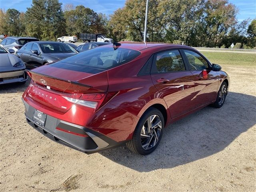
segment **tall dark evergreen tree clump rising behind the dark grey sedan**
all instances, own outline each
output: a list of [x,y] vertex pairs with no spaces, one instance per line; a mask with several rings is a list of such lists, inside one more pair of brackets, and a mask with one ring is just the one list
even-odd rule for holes
[[27,8],[26,31],[41,40],[56,40],[65,34],[65,20],[58,0],[32,0]]

